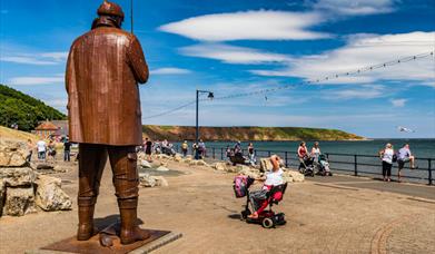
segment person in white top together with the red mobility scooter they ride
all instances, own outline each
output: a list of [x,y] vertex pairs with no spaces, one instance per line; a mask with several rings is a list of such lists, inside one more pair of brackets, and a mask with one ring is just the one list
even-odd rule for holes
[[[259,223],[266,228],[286,223],[284,213],[275,214],[271,211],[273,204],[278,204],[283,199],[287,183],[283,180],[283,169],[279,167],[280,158],[277,155],[273,155],[270,162],[274,167],[266,175],[265,184],[260,190],[249,192],[249,186],[254,180],[248,178],[246,185],[247,201],[245,211],[241,212],[241,218],[246,219],[247,223]],[[267,206],[269,206],[269,209],[266,209]]]

